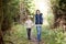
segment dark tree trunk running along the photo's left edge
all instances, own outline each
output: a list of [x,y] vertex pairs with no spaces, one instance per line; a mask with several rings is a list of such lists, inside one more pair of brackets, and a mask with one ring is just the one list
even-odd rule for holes
[[2,0],[0,0],[0,44],[3,44],[3,40],[2,40],[2,30],[1,30],[1,24],[3,21],[3,9],[2,9]]

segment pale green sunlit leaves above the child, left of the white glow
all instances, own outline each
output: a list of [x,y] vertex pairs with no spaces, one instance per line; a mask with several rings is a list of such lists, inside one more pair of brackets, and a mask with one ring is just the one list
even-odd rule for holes
[[30,12],[30,14],[34,14],[35,4],[33,0],[24,0],[24,6],[28,12]]

